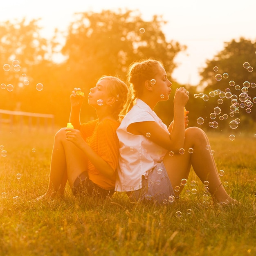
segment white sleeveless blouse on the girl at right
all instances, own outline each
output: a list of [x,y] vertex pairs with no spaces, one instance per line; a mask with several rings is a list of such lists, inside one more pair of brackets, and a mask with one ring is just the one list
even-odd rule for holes
[[[116,191],[135,191],[141,189],[142,175],[161,162],[167,150],[150,141],[144,135],[134,135],[127,131],[130,124],[155,121],[168,132],[167,126],[156,113],[141,99],[126,114],[119,128],[119,166],[117,168]],[[150,134],[149,134],[150,136]]]

